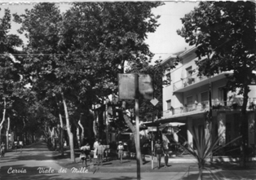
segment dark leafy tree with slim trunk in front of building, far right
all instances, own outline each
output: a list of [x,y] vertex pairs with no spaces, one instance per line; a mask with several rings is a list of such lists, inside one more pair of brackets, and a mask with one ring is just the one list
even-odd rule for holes
[[[255,80],[255,3],[254,2],[200,2],[184,18],[183,28],[177,33],[189,45],[195,45],[199,74],[233,71],[227,76],[227,88],[243,94],[240,133],[242,135],[241,165],[245,165],[245,144],[248,138],[246,106],[249,85]],[[209,71],[210,69],[210,71]]]

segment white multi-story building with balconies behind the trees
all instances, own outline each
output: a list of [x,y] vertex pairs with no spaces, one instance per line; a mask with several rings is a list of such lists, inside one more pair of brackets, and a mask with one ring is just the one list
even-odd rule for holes
[[[196,47],[179,53],[181,59],[179,65],[167,72],[163,77],[167,85],[163,87],[163,115],[159,121],[183,122],[181,134],[190,145],[193,145],[191,130],[193,126],[205,129],[205,115],[210,110],[210,100],[212,102],[212,134],[216,137],[220,132],[223,143],[228,143],[239,135],[239,121],[242,95],[228,91],[225,86],[227,83],[226,74],[232,72],[221,72],[212,77],[198,77],[196,66]],[[176,55],[171,55],[162,64],[171,64]],[[203,60],[203,59],[202,59]],[[210,69],[209,69],[210,71]],[[249,102],[247,113],[249,121],[249,144],[255,144],[255,105],[256,86],[250,86]],[[209,99],[211,90],[211,99]],[[206,130],[206,129],[205,129]],[[174,134],[174,139],[179,141],[179,136]]]

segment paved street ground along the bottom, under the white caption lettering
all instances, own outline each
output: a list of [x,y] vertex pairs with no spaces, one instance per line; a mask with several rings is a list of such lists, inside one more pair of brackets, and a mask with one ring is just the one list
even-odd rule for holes
[[[24,151],[11,151],[0,159],[1,180],[44,180],[44,179],[92,179],[92,180],[131,180],[137,179],[136,166],[132,162],[123,165],[117,161],[106,163],[103,167],[82,169],[79,163],[66,165],[58,160],[58,152],[48,151],[45,143],[37,143],[24,148]],[[150,163],[142,166],[143,180],[151,179],[197,179],[195,166],[188,171],[188,164],[173,164],[168,169],[150,170]],[[76,172],[77,169],[77,172]],[[148,170],[147,170],[148,169]],[[204,179],[256,179],[255,170],[223,170],[205,171]]]

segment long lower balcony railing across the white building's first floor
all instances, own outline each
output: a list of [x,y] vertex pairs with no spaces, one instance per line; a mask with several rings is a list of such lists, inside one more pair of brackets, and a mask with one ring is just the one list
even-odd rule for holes
[[[243,104],[242,98],[229,99],[228,101],[212,100],[212,109],[213,109],[213,111],[216,111],[216,110],[240,111],[242,104]],[[209,109],[209,108],[210,108],[209,101],[185,104],[183,107],[170,108],[169,110],[164,111],[162,116],[174,116],[174,115],[184,114],[184,113],[188,113],[188,112],[201,112],[201,111],[204,111],[205,109]],[[246,108],[247,108],[247,110],[255,110],[256,109],[256,98],[248,99]]]

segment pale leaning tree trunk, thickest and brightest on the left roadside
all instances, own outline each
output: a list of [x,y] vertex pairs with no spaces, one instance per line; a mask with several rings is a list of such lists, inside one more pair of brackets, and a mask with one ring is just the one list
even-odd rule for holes
[[69,124],[68,108],[67,108],[67,104],[66,104],[66,100],[64,98],[63,92],[61,92],[60,94],[61,94],[61,97],[62,97],[62,100],[63,100],[64,112],[65,112],[65,117],[66,117],[66,125],[67,125],[69,146],[70,146],[70,159],[73,162],[76,162],[76,160],[75,160],[75,151],[74,151],[74,147],[73,147],[73,133],[71,131],[71,126]]

